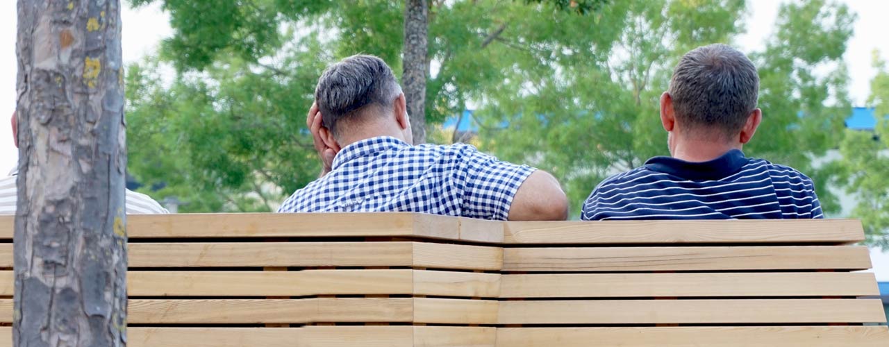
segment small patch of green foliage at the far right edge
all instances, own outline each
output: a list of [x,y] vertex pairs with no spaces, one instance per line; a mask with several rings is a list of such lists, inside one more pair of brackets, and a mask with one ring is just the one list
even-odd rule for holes
[[848,192],[857,205],[853,217],[861,218],[871,244],[889,248],[889,68],[874,54],[879,71],[870,82],[870,106],[875,106],[874,132],[846,130],[840,146],[841,161],[848,180]]

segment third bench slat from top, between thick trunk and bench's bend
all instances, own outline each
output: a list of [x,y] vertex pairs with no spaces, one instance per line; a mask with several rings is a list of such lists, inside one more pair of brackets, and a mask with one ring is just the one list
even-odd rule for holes
[[[3,288],[2,281],[0,288]],[[413,273],[407,269],[296,272],[131,271],[127,272],[127,291],[131,297],[411,295]]]

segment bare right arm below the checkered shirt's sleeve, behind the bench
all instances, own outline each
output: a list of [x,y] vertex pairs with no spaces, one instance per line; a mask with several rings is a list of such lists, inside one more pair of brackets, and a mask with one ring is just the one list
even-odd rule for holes
[[556,177],[535,170],[518,187],[509,206],[509,220],[565,220],[568,218],[568,197]]

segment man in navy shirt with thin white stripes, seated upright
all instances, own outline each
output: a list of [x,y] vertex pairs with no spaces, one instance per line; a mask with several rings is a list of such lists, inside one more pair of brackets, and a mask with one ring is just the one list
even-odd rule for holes
[[710,44],[686,53],[661,95],[671,156],[605,179],[581,219],[823,218],[811,178],[741,152],[762,121],[758,89],[740,51]]

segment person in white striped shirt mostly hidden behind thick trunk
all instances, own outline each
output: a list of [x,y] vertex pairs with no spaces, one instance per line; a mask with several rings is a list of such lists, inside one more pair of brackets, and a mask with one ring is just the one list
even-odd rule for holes
[[[19,128],[17,126],[16,114],[12,113],[12,140],[15,146],[19,146]],[[19,165],[9,173],[8,177],[0,178],[0,215],[14,215],[16,209],[16,201],[18,200],[18,185],[16,177],[19,173]],[[142,215],[170,213],[167,209],[157,203],[150,196],[143,193],[136,193],[129,189],[126,190],[126,214]]]

